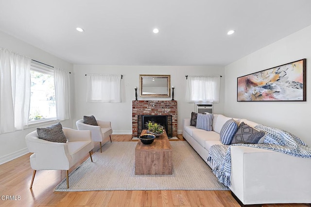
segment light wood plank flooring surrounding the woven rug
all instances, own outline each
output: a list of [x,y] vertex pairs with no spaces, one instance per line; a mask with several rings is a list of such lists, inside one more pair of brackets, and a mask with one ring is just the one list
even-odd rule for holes
[[[113,142],[127,142],[131,141],[131,138],[132,135],[112,135]],[[178,135],[178,138],[183,140],[181,135]],[[99,143],[96,143],[95,147],[99,148]],[[33,174],[29,162],[30,155],[29,153],[0,165],[1,207],[239,207],[230,191],[53,192],[66,177],[65,171],[37,171],[33,188],[29,189]],[[87,158],[88,155],[85,159]],[[73,166],[69,173],[83,161]],[[13,200],[6,200],[3,196],[11,196]],[[263,207],[308,206],[263,205]]]

